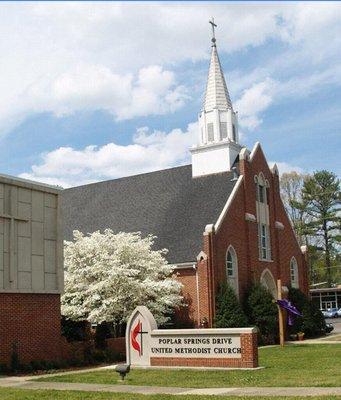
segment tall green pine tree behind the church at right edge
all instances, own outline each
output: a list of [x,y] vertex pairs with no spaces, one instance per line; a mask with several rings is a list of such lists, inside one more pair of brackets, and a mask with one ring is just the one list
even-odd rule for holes
[[310,217],[306,227],[309,234],[321,239],[328,286],[332,283],[332,257],[341,243],[340,199],[340,180],[334,173],[317,171],[304,181],[301,204]]

